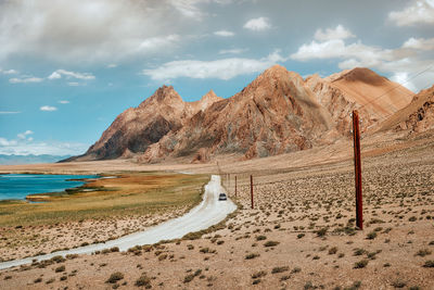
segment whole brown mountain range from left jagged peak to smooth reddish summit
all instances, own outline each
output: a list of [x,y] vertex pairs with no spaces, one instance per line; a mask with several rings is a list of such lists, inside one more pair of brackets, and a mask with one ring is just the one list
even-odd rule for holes
[[354,109],[366,130],[404,110],[413,96],[359,67],[303,79],[275,65],[228,99],[209,91],[196,102],[184,102],[171,86],[163,86],[138,108],[118,115],[84,155],[67,161],[207,162],[220,154],[277,155],[347,138]]

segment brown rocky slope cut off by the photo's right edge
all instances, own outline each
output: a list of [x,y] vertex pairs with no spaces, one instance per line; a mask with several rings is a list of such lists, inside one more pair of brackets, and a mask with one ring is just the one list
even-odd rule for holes
[[422,133],[434,129],[434,86],[420,91],[411,103],[386,119],[382,130]]

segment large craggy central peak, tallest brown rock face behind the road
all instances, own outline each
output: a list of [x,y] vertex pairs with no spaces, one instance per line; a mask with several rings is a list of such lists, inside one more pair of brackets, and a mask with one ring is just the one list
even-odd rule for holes
[[221,153],[246,159],[276,155],[326,142],[330,114],[296,73],[275,65],[235,96],[195,114],[170,131],[140,159],[156,162],[168,155],[195,155],[194,161]]

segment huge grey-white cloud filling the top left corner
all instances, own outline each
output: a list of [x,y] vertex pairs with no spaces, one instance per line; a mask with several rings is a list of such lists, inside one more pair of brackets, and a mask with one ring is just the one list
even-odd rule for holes
[[146,39],[182,30],[189,25],[183,16],[202,14],[202,2],[210,0],[0,1],[0,61],[30,56],[92,64],[143,55],[150,53],[140,49]]

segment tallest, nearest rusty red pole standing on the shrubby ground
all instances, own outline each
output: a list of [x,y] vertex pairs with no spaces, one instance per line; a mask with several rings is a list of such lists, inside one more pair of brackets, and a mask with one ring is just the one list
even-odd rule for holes
[[360,129],[359,113],[353,111],[353,139],[354,139],[354,172],[356,185],[356,226],[363,229],[363,207],[361,198],[361,161],[360,161]]

